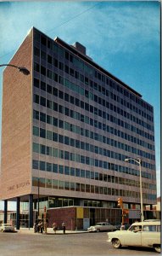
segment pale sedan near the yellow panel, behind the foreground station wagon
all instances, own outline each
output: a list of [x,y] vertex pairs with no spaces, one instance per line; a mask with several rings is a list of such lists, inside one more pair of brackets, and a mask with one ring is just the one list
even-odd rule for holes
[[115,231],[116,227],[108,222],[98,222],[97,224],[89,227],[88,232],[100,232],[100,231]]

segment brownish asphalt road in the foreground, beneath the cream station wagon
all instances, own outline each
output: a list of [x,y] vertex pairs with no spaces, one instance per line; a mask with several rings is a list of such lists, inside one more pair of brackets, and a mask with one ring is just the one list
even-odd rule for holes
[[0,256],[158,255],[154,249],[121,247],[107,242],[107,233],[42,235],[0,232]]

